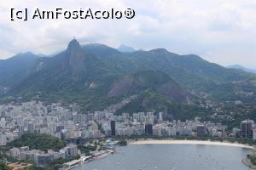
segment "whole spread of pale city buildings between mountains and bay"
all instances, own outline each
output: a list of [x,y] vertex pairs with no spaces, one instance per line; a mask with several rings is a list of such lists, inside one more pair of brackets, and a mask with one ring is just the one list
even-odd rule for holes
[[[241,128],[234,128],[232,135],[256,139],[254,122],[241,122]],[[28,147],[13,148],[9,156],[20,160],[33,160],[44,164],[57,158],[78,154],[75,145],[79,139],[97,139],[105,136],[218,136],[226,137],[226,126],[221,123],[195,120],[181,122],[173,120],[163,112],[122,113],[94,111],[84,114],[78,105],[43,105],[38,101],[20,104],[0,105],[0,145],[19,139],[25,133],[44,133],[59,139],[74,141],[72,145],[59,150],[29,150]]]

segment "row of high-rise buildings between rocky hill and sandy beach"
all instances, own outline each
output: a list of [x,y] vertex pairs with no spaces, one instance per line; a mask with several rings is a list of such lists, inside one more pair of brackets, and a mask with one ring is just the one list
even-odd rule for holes
[[220,123],[200,122],[199,117],[195,121],[167,120],[162,113],[139,112],[123,113],[121,116],[113,116],[108,111],[98,111],[98,120],[104,129],[106,136],[136,136],[148,135],[155,137],[175,136],[225,136],[225,126]]

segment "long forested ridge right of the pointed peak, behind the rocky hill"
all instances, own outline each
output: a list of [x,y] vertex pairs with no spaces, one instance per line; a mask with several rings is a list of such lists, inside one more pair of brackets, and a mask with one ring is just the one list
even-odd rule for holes
[[[237,69],[227,69],[207,62],[194,54],[178,55],[158,48],[150,51],[119,53],[101,44],[83,47],[119,72],[158,70],[166,72],[176,82],[191,90],[206,89],[209,85],[237,82],[253,77],[253,74]],[[108,50],[107,50],[108,49]],[[104,53],[108,51],[108,53]]]

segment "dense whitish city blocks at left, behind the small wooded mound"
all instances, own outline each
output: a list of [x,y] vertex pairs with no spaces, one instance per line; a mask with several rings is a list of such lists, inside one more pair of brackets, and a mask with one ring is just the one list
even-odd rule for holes
[[0,105],[0,145],[19,139],[25,133],[44,133],[60,139],[103,136],[93,114],[80,113],[78,105],[64,107],[36,101]]

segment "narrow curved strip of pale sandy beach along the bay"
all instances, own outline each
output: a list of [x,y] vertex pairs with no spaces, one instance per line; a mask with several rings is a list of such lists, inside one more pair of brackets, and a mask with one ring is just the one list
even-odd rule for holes
[[131,141],[130,144],[203,144],[203,145],[223,145],[223,146],[233,146],[241,147],[247,149],[253,149],[253,146],[247,144],[229,143],[229,142],[218,142],[218,141],[203,141],[203,140],[158,140],[158,139],[146,139]]

